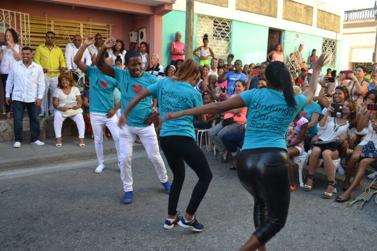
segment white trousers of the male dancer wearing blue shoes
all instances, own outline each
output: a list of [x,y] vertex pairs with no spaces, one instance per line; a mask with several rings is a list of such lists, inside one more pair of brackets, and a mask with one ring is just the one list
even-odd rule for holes
[[139,136],[148,158],[152,161],[160,182],[165,183],[167,181],[166,168],[159,151],[155,126],[153,124],[147,127],[125,125],[119,132],[120,177],[123,181],[125,192],[134,190],[132,187],[131,161],[136,134]]

